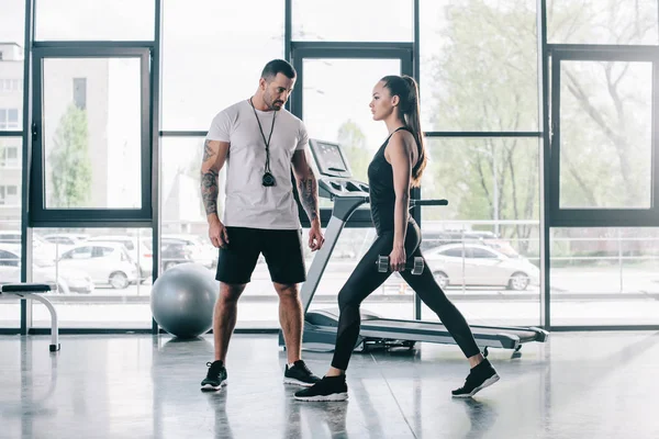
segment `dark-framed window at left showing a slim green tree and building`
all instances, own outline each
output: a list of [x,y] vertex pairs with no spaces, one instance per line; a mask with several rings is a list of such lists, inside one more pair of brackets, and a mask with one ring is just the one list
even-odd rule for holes
[[32,155],[40,182],[30,196],[32,224],[149,221],[148,48],[37,48],[34,56],[42,135]]

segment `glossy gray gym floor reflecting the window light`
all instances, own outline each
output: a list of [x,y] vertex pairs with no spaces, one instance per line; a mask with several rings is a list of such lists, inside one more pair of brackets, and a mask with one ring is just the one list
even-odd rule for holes
[[[659,334],[552,334],[491,350],[502,381],[451,399],[455,346],[356,353],[346,403],[302,403],[271,335],[236,335],[228,386],[201,393],[212,339],[0,336],[1,438],[659,438]],[[306,353],[322,374],[330,356]]]

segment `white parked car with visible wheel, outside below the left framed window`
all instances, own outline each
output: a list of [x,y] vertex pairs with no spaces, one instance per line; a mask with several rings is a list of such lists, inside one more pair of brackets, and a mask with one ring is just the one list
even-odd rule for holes
[[97,285],[126,289],[139,281],[139,267],[123,244],[94,241],[80,244],[58,260],[60,268],[85,270]]

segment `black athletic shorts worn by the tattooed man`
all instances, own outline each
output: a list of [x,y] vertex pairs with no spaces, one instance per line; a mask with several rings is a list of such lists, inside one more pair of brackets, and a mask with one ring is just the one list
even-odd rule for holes
[[252,280],[258,257],[264,255],[272,282],[292,284],[306,280],[302,230],[226,227],[228,246],[220,249],[220,282],[237,284]]

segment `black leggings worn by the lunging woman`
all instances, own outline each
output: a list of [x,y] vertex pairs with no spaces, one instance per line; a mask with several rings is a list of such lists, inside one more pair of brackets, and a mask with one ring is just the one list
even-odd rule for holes
[[[405,255],[407,259],[423,257],[418,245],[421,244],[421,232],[414,221],[407,223],[407,233],[405,234]],[[338,318],[338,331],[336,334],[336,347],[332,367],[340,370],[348,368],[350,354],[357,338],[359,337],[359,305],[378,286],[391,275],[391,271],[381,273],[378,271],[376,261],[379,255],[389,256],[393,248],[393,232],[383,233],[371,245],[364,255],[353,274],[348,278],[346,284],[338,293],[338,307],[340,316]],[[446,297],[444,291],[439,288],[427,262],[424,258],[425,268],[423,273],[415,275],[409,271],[402,271],[401,275],[418,294],[421,300],[437,314],[446,329],[456,340],[467,358],[480,352],[473,334],[465,320],[465,317],[458,308]]]

